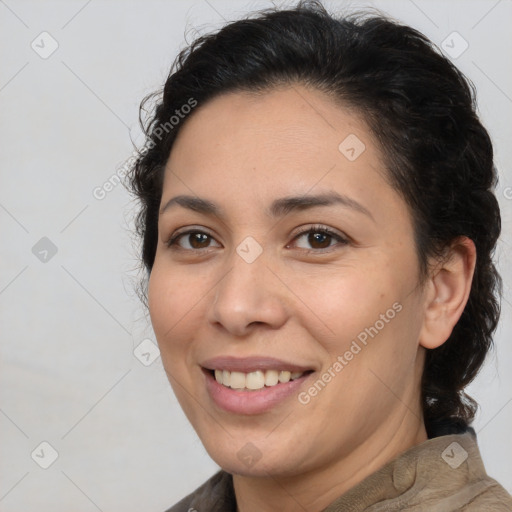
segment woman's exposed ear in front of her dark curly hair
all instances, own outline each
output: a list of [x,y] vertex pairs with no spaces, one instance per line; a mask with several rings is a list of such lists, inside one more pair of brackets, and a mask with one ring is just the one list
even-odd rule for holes
[[425,311],[420,345],[433,349],[449,337],[466,307],[476,264],[476,248],[467,237],[457,238],[425,283]]

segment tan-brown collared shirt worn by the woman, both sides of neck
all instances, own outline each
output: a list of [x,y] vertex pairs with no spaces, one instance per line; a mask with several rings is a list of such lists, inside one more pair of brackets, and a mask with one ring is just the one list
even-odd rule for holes
[[[219,471],[166,512],[236,512],[233,480]],[[470,433],[411,448],[332,502],[323,512],[511,512],[512,497],[487,476]]]

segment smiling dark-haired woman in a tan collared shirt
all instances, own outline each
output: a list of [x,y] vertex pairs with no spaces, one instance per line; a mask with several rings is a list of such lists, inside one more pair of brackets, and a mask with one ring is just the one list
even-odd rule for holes
[[500,214],[462,74],[409,27],[300,3],[184,50],[145,129],[147,303],[222,468],[170,511],[512,510],[464,394]]

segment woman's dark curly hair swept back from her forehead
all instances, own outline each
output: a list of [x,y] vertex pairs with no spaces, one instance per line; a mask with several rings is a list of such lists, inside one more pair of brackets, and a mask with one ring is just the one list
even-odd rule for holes
[[[475,243],[468,303],[449,339],[427,351],[422,380],[429,437],[463,431],[477,408],[464,388],[492,345],[500,309],[501,279],[492,261],[501,230],[493,148],[476,114],[473,85],[424,35],[386,16],[338,18],[318,1],[301,1],[229,23],[179,53],[163,91],[141,104],[146,144],[128,176],[140,201],[143,295],[157,246],[164,167],[186,123],[186,116],[177,125],[171,117],[190,111],[183,106],[191,100],[200,107],[226,92],[299,83],[355,108],[379,141],[389,182],[414,222],[420,281],[429,258],[457,238]],[[151,100],[156,105],[144,122]]]

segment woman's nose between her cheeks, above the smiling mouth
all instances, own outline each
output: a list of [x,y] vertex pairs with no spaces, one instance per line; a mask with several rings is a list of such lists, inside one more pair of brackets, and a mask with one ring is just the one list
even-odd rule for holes
[[209,322],[237,337],[258,326],[282,327],[289,316],[286,289],[268,268],[264,255],[249,263],[235,252],[230,264],[216,286]]

